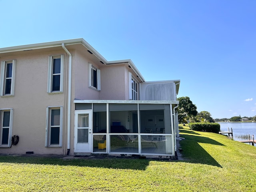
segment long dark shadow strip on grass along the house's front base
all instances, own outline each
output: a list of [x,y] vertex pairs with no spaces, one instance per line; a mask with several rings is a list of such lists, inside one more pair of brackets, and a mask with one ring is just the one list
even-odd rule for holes
[[0,162],[146,170],[150,160],[128,158],[62,159],[56,157],[48,158],[34,156],[0,156]]

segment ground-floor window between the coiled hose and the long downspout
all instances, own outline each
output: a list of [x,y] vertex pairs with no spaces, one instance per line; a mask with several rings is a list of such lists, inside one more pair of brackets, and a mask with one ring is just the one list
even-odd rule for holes
[[45,146],[62,146],[62,106],[46,109]]

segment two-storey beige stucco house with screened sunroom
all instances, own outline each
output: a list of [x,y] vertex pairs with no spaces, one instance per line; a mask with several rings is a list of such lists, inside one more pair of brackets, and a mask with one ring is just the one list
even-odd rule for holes
[[180,80],[146,82],[82,38],[0,48],[0,60],[0,153],[175,155]]

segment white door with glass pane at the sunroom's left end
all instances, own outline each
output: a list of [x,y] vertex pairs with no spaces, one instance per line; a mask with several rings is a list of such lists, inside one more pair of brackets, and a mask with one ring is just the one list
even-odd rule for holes
[[75,112],[74,152],[91,152],[92,111]]

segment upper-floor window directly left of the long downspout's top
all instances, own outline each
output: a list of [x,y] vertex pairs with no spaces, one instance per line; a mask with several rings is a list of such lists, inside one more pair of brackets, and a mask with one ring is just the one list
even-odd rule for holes
[[64,55],[49,56],[48,93],[63,92],[63,61]]

